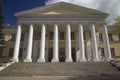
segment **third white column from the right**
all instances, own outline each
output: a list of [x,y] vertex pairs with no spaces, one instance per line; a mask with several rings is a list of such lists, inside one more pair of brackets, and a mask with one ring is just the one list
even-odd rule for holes
[[85,62],[86,58],[85,58],[85,48],[84,48],[84,37],[83,37],[83,26],[80,25],[79,26],[79,49],[80,49],[80,60],[81,62]]

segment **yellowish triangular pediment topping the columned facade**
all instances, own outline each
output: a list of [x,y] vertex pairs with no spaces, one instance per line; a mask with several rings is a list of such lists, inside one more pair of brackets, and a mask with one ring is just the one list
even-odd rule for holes
[[47,6],[43,6],[43,7],[38,7],[38,8],[33,8],[30,10],[25,10],[22,12],[18,12],[15,15],[19,16],[19,15],[27,15],[27,14],[31,14],[31,15],[53,15],[53,14],[98,14],[98,15],[108,15],[106,13],[103,13],[101,11],[98,10],[93,10],[93,9],[89,9],[89,8],[85,8],[85,7],[81,7],[81,6],[77,6],[74,4],[70,4],[70,3],[65,3],[65,2],[59,2],[59,3],[55,3],[55,4],[51,4],[51,5],[47,5]]

